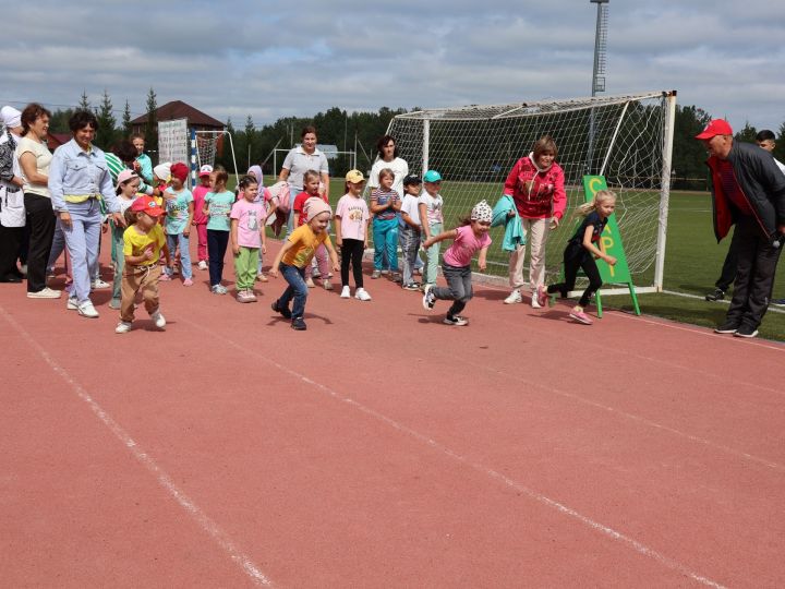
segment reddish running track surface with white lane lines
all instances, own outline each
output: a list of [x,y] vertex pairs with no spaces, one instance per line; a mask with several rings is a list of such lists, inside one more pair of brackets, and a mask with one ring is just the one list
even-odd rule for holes
[[3,587],[785,584],[782,345],[195,273],[123,336],[0,285]]

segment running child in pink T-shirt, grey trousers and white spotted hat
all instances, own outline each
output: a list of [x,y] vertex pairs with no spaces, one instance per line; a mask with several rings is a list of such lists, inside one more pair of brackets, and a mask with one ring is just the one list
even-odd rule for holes
[[474,205],[469,218],[462,219],[461,227],[445,231],[437,236],[432,236],[425,240],[423,244],[430,248],[434,243],[452,239],[452,244],[444,254],[444,263],[442,269],[447,279],[448,288],[425,285],[425,294],[423,296],[423,306],[426,310],[434,308],[437,300],[452,301],[452,305],[447,311],[444,318],[446,325],[468,325],[466,317],[458,313],[463,311],[466,304],[472,298],[471,287],[471,259],[475,252],[480,252],[478,256],[478,267],[484,271],[485,256],[487,255],[488,245],[491,245],[491,219],[493,218],[493,209],[485,201],[481,201]]

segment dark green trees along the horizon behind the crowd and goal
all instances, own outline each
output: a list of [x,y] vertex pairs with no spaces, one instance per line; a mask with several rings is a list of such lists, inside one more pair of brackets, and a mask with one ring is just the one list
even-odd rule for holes
[[[128,137],[131,132],[131,109],[125,100],[120,119],[116,117],[114,106],[108,91],[104,91],[98,105],[92,105],[85,92],[82,93],[75,108],[93,110],[98,119],[98,133],[95,143],[102,149],[109,149],[117,141]],[[149,88],[145,108],[148,121],[145,129],[145,141],[148,152],[154,156],[158,149],[157,121],[155,111],[158,108],[156,93]],[[419,110],[414,108],[412,110]],[[73,108],[58,109],[52,112],[50,132],[69,133],[68,120]],[[232,134],[237,165],[240,171],[250,165],[262,165],[265,173],[276,175],[273,169],[273,149],[288,149],[300,141],[300,131],[312,124],[318,131],[321,144],[336,145],[339,151],[357,151],[357,164],[360,169],[369,169],[376,156],[376,141],[381,137],[396,115],[407,112],[404,108],[382,107],[376,112],[347,112],[333,107],[314,117],[285,117],[274,123],[257,127],[249,115],[243,127],[235,128],[231,119],[227,120],[227,129]],[[713,117],[697,106],[677,106],[674,125],[672,188],[674,190],[708,190],[709,176],[705,166],[705,149],[695,136],[700,133]],[[774,157],[785,161],[785,122],[778,129],[771,129],[776,135]],[[754,143],[758,129],[746,123],[737,130],[738,141]],[[280,157],[277,161],[280,168]],[[231,152],[224,148],[216,163],[232,169]],[[349,156],[339,156],[330,161],[334,176],[342,176],[353,165]]]

